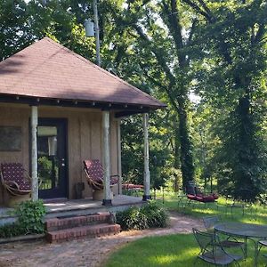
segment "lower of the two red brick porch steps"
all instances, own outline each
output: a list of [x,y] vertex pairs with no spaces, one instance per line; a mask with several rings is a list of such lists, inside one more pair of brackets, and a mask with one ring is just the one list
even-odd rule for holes
[[119,224],[100,223],[75,228],[50,231],[46,233],[46,240],[50,243],[84,237],[97,238],[107,235],[115,235],[120,231]]

